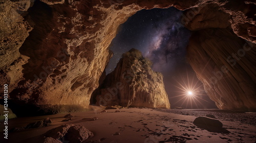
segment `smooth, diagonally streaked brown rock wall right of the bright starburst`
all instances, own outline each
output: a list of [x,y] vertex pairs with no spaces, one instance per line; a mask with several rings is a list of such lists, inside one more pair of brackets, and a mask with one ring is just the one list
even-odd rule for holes
[[255,44],[228,29],[205,29],[191,36],[187,59],[220,109],[255,111]]

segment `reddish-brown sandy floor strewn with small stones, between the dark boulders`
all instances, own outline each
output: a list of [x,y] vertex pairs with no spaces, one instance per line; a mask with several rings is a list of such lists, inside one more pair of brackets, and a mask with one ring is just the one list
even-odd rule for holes
[[[35,117],[19,117],[9,120],[9,129],[25,127],[27,124],[50,117],[51,126],[26,129],[9,133],[7,142],[38,142],[39,136],[63,124],[83,125],[94,133],[84,142],[256,142],[256,113],[223,113],[218,110],[160,110],[160,109],[115,109],[99,113],[95,111],[76,112],[72,121],[61,122],[66,114]],[[223,123],[223,129],[230,133],[209,132],[193,124],[197,116],[212,114]],[[97,116],[96,121],[83,121],[82,118]],[[1,122],[3,131],[3,122]],[[120,135],[114,134],[120,133]],[[0,142],[3,140],[1,133]]]

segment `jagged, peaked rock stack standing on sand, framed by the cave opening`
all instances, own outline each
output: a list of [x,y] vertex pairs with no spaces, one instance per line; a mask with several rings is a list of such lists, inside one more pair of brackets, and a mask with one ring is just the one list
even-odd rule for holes
[[101,94],[96,97],[96,104],[170,108],[163,76],[151,66],[151,61],[136,49],[123,54],[115,70],[100,86]]

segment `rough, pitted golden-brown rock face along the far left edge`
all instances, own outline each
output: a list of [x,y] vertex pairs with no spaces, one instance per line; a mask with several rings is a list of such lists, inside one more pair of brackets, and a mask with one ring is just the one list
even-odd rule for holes
[[8,84],[9,91],[24,79],[22,65],[27,63],[28,57],[20,55],[19,47],[32,28],[17,11],[23,13],[29,7],[29,0],[3,1],[0,4],[0,86]]

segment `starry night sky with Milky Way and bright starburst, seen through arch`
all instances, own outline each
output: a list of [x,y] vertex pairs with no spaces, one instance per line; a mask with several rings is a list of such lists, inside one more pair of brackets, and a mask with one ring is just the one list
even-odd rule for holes
[[[191,32],[180,23],[181,14],[175,8],[141,10],[127,19],[110,45],[114,54],[106,74],[115,69],[123,53],[138,49],[153,62],[152,69],[163,74],[172,108],[217,108],[186,62],[186,46]],[[195,86],[196,99],[188,99],[182,86]]]

